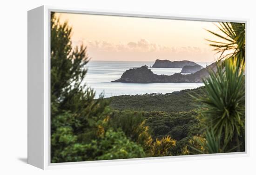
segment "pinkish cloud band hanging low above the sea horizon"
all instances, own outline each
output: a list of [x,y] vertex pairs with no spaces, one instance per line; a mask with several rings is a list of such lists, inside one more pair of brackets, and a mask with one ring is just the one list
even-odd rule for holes
[[[94,58],[104,59],[111,57],[124,58],[134,57],[136,59],[208,59],[213,60],[213,52],[209,48],[201,48],[197,46],[167,46],[158,43],[152,43],[147,39],[140,39],[138,41],[129,41],[127,43],[115,44],[105,40],[93,40],[88,41],[81,39],[79,41],[73,41],[74,45],[84,44],[88,46],[88,52],[94,56]],[[112,56],[113,55],[113,56]],[[142,58],[145,57],[145,58]],[[153,58],[154,57],[154,58]],[[99,59],[100,59],[99,58]]]

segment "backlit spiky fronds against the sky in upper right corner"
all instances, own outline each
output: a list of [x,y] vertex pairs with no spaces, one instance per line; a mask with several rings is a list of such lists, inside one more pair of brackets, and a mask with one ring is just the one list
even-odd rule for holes
[[[208,40],[215,51],[220,53],[220,59],[235,57],[245,59],[245,23],[220,22],[216,25],[220,33],[208,32],[217,36],[221,41]],[[239,60],[240,61],[240,60]]]

